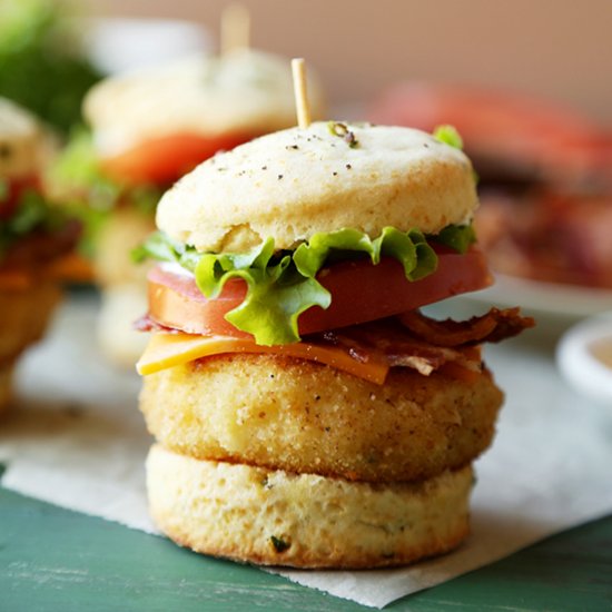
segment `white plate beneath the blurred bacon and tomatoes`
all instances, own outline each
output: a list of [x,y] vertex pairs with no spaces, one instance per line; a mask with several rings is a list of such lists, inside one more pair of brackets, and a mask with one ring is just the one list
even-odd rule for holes
[[524,312],[541,316],[583,318],[612,310],[612,290],[541,283],[501,274],[495,275],[492,287],[465,297],[495,306],[521,306]]

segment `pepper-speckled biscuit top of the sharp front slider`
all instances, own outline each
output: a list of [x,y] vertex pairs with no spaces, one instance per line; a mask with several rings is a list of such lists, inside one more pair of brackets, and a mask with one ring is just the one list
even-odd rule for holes
[[316,122],[218,154],[161,198],[159,229],[198,250],[241,251],[268,237],[294,248],[317,231],[436,234],[472,218],[477,197],[463,152],[411,128],[343,125],[354,146]]

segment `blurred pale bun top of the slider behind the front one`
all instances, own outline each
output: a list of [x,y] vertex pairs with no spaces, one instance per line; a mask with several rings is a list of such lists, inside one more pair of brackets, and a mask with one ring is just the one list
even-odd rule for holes
[[[308,90],[316,117],[316,78]],[[83,112],[102,157],[177,132],[258,136],[295,124],[290,63],[251,49],[187,58],[99,82]]]

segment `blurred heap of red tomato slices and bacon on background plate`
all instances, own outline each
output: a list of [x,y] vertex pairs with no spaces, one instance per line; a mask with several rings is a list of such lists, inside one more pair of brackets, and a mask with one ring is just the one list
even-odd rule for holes
[[374,101],[369,118],[455,126],[477,172],[477,234],[493,268],[601,289],[612,306],[610,131],[550,100],[467,85],[397,85]]

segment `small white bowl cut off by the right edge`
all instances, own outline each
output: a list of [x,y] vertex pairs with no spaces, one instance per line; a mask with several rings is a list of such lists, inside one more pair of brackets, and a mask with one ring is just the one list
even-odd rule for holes
[[575,389],[612,407],[612,313],[571,327],[557,345],[556,363]]

